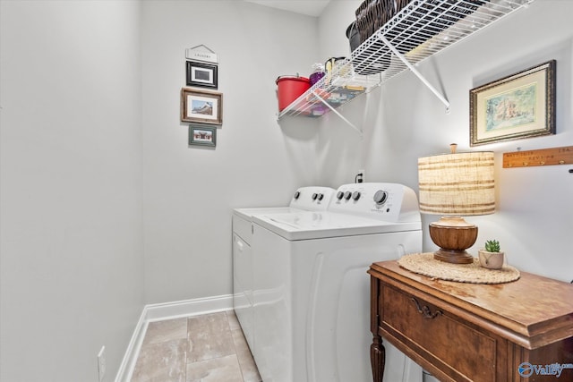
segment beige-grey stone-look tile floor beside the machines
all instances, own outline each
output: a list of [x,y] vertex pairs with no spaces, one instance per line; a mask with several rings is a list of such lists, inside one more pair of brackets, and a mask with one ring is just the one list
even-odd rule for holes
[[131,382],[260,382],[233,310],[150,322]]

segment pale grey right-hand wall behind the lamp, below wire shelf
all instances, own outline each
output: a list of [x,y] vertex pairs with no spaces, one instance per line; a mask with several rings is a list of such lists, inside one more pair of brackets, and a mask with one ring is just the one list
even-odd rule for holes
[[[352,2],[355,6],[348,3],[331,2],[321,16],[321,38],[337,40],[336,47],[325,43],[332,50],[346,47],[347,41],[340,35],[348,23],[348,8],[355,10],[361,2]],[[352,182],[356,171],[364,168],[369,182],[405,183],[417,191],[418,157],[447,152],[451,142],[458,143],[458,150],[495,151],[497,212],[468,218],[480,230],[470,251],[476,254],[485,240],[497,238],[510,264],[570,281],[573,175],[568,170],[572,166],[503,169],[501,159],[504,152],[517,148],[573,144],[571,14],[571,1],[537,0],[420,64],[418,70],[449,99],[449,115],[411,72],[346,106],[345,115],[363,129],[362,140],[338,117],[329,115],[320,127],[319,180],[336,187]],[[469,90],[550,59],[557,60],[557,134],[470,148]],[[423,216],[423,223],[438,217]],[[427,229],[424,233],[424,250],[434,250]]]

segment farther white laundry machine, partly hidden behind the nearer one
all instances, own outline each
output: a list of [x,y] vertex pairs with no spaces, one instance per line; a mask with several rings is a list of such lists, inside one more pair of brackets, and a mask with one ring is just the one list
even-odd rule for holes
[[294,213],[326,210],[336,190],[329,187],[301,187],[289,207],[235,208],[233,210],[233,307],[253,351],[252,308],[252,216],[263,213]]

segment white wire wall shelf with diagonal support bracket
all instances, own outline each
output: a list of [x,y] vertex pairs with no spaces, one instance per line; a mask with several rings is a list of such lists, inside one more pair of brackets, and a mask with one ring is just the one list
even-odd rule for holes
[[415,72],[448,108],[449,102],[423,79],[414,65],[534,1],[412,0],[350,57],[286,106],[278,119],[285,115],[319,117],[328,111],[336,112],[339,106],[406,70]]

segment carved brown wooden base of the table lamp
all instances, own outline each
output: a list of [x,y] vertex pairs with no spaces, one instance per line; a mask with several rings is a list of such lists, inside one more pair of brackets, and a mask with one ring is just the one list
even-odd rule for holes
[[477,226],[470,225],[462,217],[442,216],[430,225],[432,242],[440,247],[433,252],[433,258],[452,264],[471,264],[472,255],[466,249],[477,239]]

